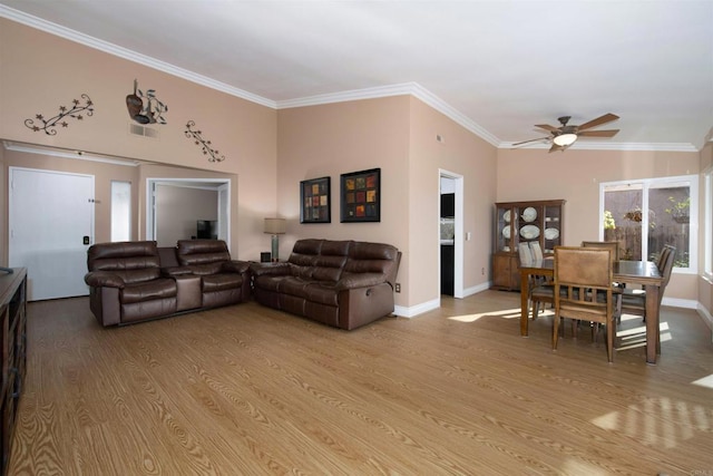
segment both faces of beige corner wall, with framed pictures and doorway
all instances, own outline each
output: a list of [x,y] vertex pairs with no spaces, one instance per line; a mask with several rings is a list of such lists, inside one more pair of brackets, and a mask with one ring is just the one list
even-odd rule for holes
[[[473,235],[463,286],[488,281],[495,147],[409,96],[281,110],[277,136],[279,204],[289,218],[281,254],[310,236],[391,243],[403,253],[397,305],[440,299],[439,171],[447,169],[463,176],[465,231]],[[340,175],[373,167],[381,167],[381,222],[340,223]],[[332,223],[300,224],[299,183],[322,176],[332,182]]]

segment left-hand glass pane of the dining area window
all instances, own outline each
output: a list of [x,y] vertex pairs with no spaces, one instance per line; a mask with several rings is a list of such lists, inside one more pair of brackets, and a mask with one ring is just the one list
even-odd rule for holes
[[642,259],[643,184],[604,188],[604,241],[619,243],[622,260]]

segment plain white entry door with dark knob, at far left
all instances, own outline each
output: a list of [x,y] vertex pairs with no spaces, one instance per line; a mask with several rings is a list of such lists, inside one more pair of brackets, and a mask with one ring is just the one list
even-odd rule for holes
[[10,167],[9,261],[27,268],[28,300],[87,295],[94,176]]

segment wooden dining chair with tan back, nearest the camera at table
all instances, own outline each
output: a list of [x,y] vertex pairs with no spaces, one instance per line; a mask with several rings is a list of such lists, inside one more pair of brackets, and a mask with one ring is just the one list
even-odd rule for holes
[[555,246],[555,319],[553,350],[559,320],[569,318],[604,324],[607,359],[614,360],[614,285],[612,250],[598,246]]

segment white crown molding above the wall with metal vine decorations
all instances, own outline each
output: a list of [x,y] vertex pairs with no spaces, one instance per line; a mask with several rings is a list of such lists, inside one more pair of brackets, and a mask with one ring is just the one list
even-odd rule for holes
[[61,27],[57,23],[52,23],[51,21],[42,20],[41,18],[33,17],[31,14],[21,12],[19,10],[9,8],[3,4],[0,4],[0,17],[4,17],[12,21],[17,21],[18,23],[22,23],[28,27],[36,28],[38,30],[55,35],[57,37],[65,38],[67,40],[87,46],[89,48],[94,48],[99,51],[104,51],[106,54],[114,55],[119,58],[137,62],[139,65],[144,65],[146,67],[186,79],[197,85],[205,86],[207,88],[228,94],[231,96],[236,96],[242,99],[250,100],[252,103],[257,103],[273,109],[275,108],[274,100],[254,95],[252,93],[245,91],[240,88],[235,88],[233,86],[226,85],[225,82],[216,81],[215,79],[211,79],[206,76],[198,75],[196,72],[189,71],[184,68],[179,68],[168,62],[159,61],[146,55],[140,55],[136,51],[121,48],[108,41],[102,41],[97,38],[90,37],[88,35],[84,35],[78,31],[71,30],[69,28]]

